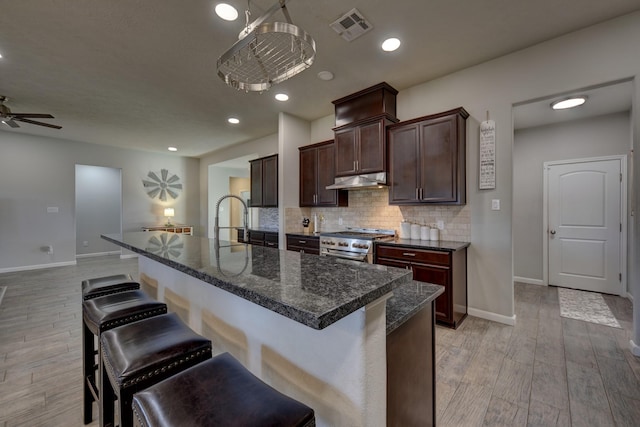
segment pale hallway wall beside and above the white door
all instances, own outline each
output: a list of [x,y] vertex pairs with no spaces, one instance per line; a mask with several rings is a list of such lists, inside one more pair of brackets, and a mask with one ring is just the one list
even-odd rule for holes
[[516,131],[513,142],[513,274],[542,281],[542,165],[553,160],[624,155],[630,113]]

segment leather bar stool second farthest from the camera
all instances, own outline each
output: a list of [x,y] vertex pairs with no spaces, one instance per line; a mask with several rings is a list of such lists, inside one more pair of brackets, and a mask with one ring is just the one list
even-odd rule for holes
[[[93,402],[100,401],[96,382],[97,353],[95,337],[116,326],[135,322],[167,312],[167,305],[158,302],[140,290],[111,293],[87,299],[82,303],[82,374],[83,421],[93,420]],[[99,341],[98,341],[99,347]]]

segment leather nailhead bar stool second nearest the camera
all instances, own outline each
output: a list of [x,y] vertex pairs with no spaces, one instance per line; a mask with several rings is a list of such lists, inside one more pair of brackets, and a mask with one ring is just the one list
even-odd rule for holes
[[[133,425],[133,394],[211,358],[211,341],[177,314],[129,323],[100,336],[100,425]],[[188,425],[188,424],[184,424]]]

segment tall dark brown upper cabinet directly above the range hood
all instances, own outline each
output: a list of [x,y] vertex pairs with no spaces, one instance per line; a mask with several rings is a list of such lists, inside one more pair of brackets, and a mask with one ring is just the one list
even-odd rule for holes
[[386,172],[386,127],[398,121],[397,94],[380,83],[333,101],[335,176]]

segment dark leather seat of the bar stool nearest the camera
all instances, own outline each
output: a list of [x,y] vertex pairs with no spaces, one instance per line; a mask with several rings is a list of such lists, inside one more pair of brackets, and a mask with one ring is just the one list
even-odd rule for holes
[[315,426],[313,409],[262,382],[229,353],[133,397],[134,426]]

